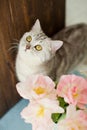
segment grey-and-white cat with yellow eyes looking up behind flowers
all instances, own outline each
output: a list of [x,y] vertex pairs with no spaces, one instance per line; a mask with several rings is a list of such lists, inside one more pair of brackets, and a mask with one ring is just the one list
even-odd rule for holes
[[75,67],[87,51],[87,25],[66,27],[52,38],[42,31],[37,19],[32,29],[20,39],[16,57],[19,81],[29,75],[43,74],[58,80]]

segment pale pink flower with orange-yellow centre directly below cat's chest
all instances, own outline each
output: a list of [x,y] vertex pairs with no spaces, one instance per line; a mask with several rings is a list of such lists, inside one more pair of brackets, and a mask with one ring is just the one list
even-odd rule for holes
[[55,83],[43,75],[29,76],[25,82],[17,85],[18,93],[25,99],[35,100],[40,98],[56,99]]

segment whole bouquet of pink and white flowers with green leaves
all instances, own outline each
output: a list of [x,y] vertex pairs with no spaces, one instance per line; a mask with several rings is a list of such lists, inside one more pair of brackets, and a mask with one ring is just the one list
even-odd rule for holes
[[87,80],[62,75],[58,83],[33,75],[16,85],[29,104],[21,112],[32,130],[87,130]]

